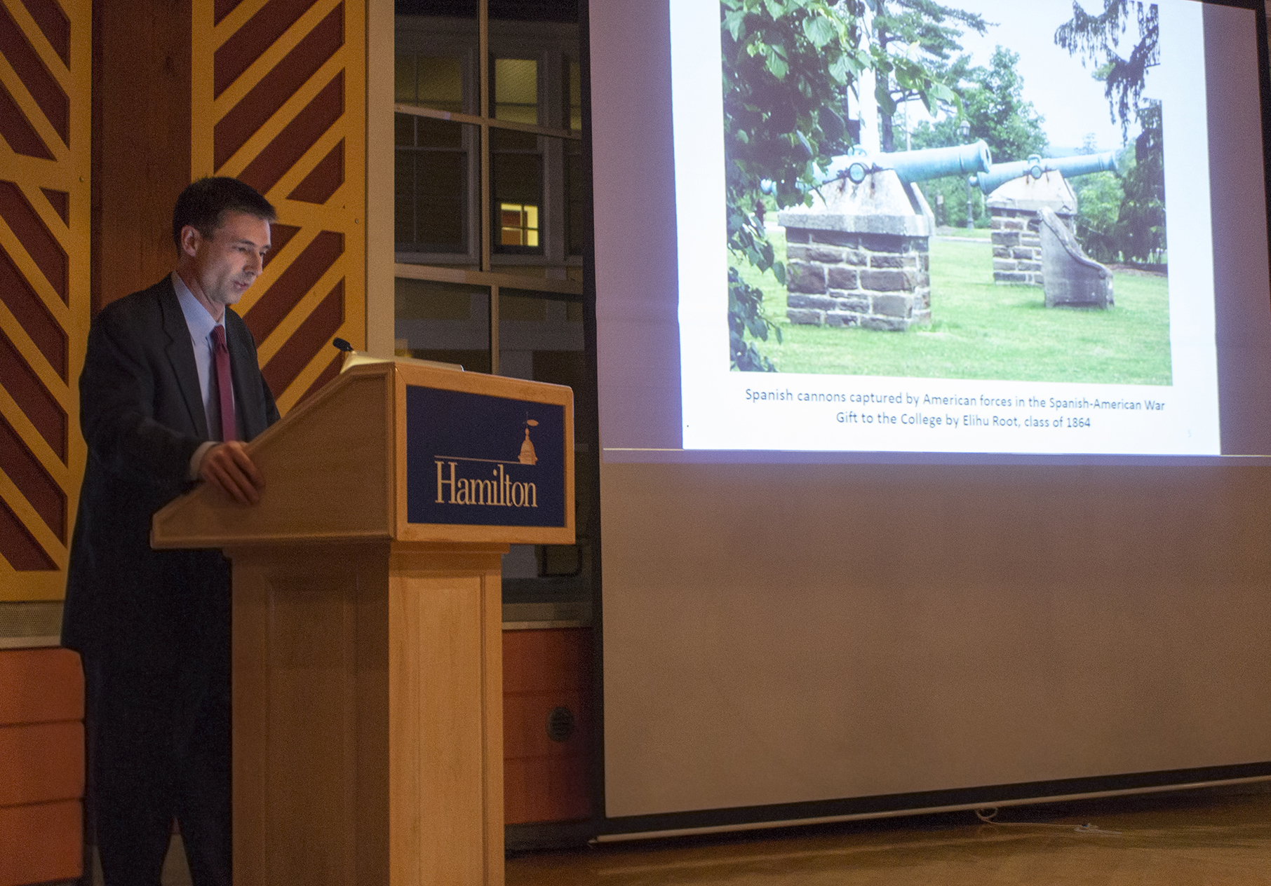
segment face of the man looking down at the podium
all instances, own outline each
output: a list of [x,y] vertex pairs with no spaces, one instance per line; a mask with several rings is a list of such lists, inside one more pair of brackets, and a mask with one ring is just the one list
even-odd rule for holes
[[247,212],[224,212],[210,237],[186,226],[180,242],[186,267],[201,291],[194,294],[201,294],[219,317],[226,305],[238,303],[259,275],[269,251],[269,222]]

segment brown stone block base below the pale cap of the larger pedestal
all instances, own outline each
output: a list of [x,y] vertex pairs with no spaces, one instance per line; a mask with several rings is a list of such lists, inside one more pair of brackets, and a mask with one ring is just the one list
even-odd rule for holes
[[930,324],[929,237],[787,227],[785,244],[791,322],[887,331]]

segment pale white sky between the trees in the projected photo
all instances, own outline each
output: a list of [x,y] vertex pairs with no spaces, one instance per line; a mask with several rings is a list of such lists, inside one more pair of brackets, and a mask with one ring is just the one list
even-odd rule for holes
[[[1071,0],[944,0],[946,5],[979,13],[986,22],[996,23],[984,37],[975,32],[963,36],[962,46],[976,65],[988,66],[993,48],[999,43],[1019,53],[1019,74],[1024,80],[1024,98],[1046,119],[1043,128],[1054,149],[1080,147],[1087,133],[1094,133],[1101,151],[1121,146],[1121,124],[1108,117],[1103,84],[1091,76],[1091,67],[1082,67],[1079,57],[1055,46],[1055,29],[1073,14]],[[1089,13],[1103,10],[1102,0],[1082,0]],[[1121,55],[1127,56],[1139,39],[1131,20],[1121,42]],[[910,107],[910,122],[925,117],[920,103]],[[1130,138],[1138,135],[1131,124]],[[1005,159],[1005,157],[1004,157]],[[1010,157],[1016,160],[1019,157]]]

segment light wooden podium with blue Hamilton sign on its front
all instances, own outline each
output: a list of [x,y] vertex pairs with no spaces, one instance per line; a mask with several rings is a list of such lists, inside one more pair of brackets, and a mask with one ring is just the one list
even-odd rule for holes
[[151,532],[234,561],[234,881],[501,885],[500,557],[574,541],[572,391],[360,366],[250,454]]

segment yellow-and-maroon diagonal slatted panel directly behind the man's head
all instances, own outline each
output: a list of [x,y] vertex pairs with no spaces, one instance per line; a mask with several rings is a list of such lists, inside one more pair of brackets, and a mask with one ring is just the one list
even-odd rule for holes
[[234,175],[278,208],[275,253],[239,312],[286,413],[366,344],[366,34],[360,0],[193,0],[193,175]]

